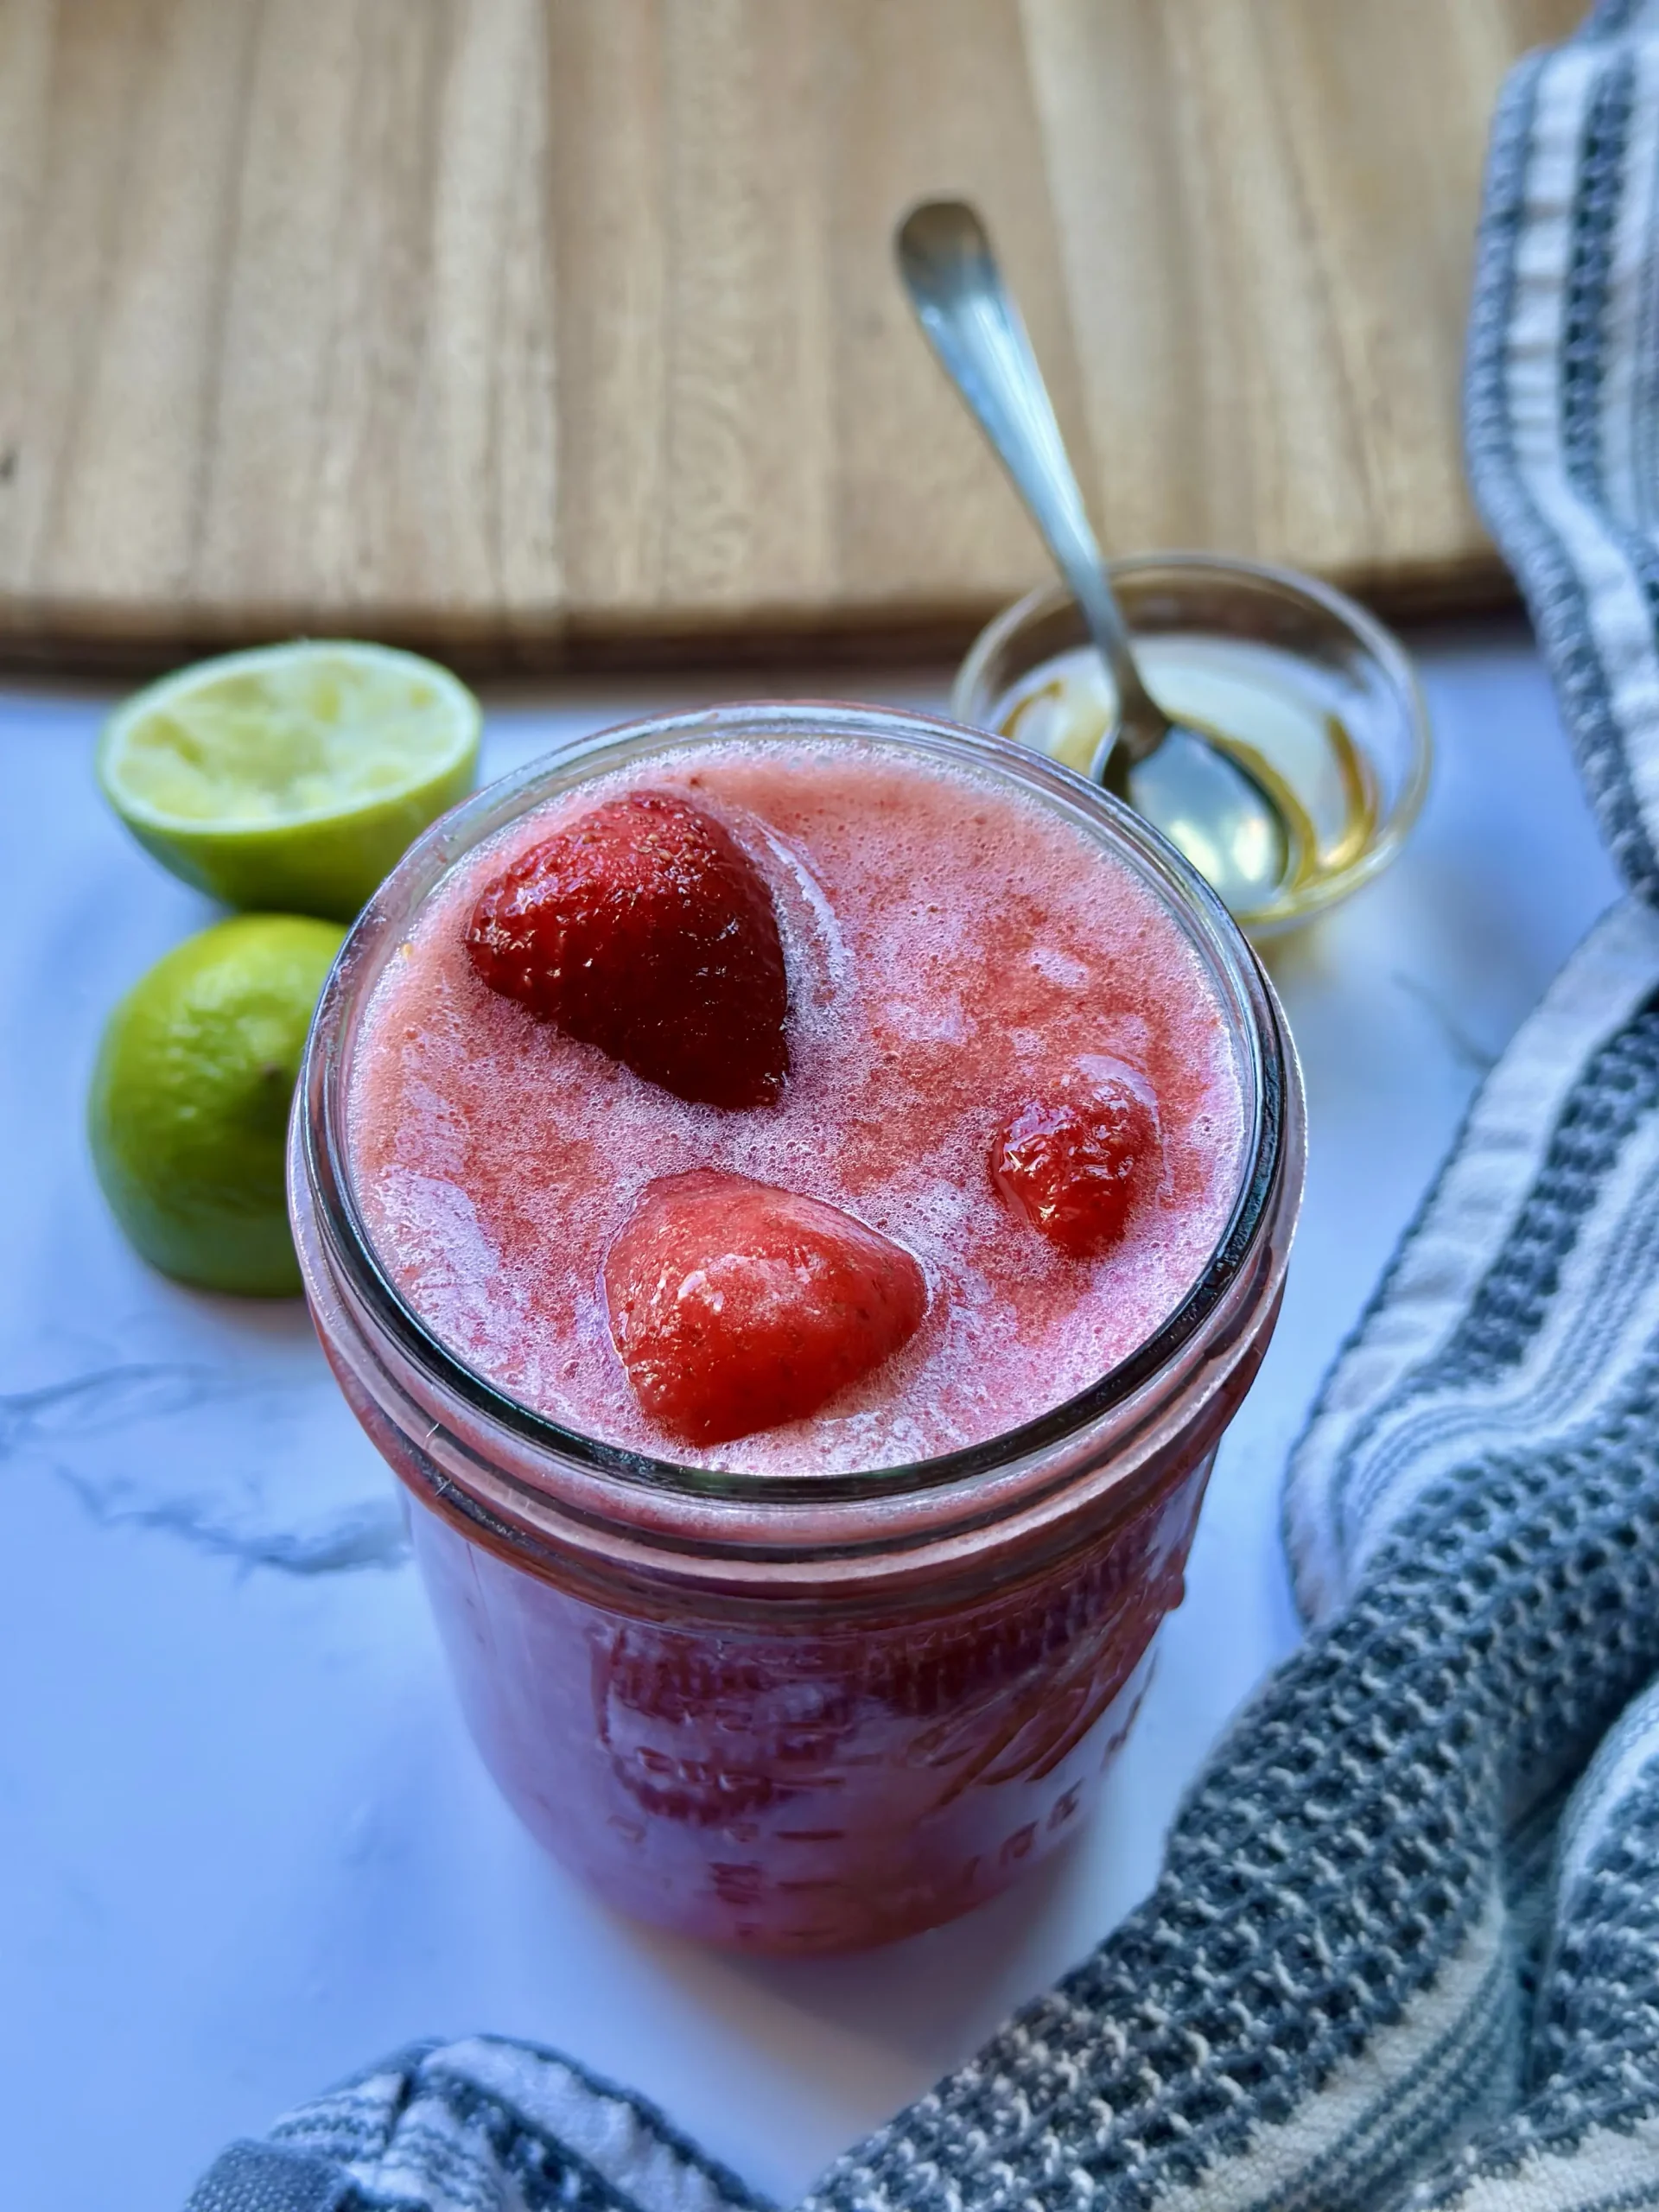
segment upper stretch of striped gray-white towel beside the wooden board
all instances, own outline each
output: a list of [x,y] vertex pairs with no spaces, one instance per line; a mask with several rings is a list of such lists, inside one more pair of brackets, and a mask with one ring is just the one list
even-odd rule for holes
[[1604,0],[1504,84],[1464,442],[1601,834],[1659,902],[1659,7]]

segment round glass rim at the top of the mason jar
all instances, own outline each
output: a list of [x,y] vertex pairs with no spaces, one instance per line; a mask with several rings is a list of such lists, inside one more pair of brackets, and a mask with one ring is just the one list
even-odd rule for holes
[[[1206,958],[1212,980],[1232,1002],[1234,1042],[1243,1046],[1248,1126],[1239,1190],[1210,1259],[1177,1307],[1126,1358],[1062,1405],[1015,1429],[927,1460],[799,1475],[710,1469],[611,1444],[538,1413],[469,1367],[403,1296],[374,1248],[349,1172],[345,1117],[352,1015],[367,1004],[414,911],[487,836],[557,796],[560,790],[679,743],[754,739],[896,743],[962,768],[991,770],[1002,781],[1013,781],[1024,792],[1035,792],[1057,810],[1082,818],[1097,838],[1108,830],[1110,838],[1102,843],[1113,843],[1119,856],[1130,860]],[[1228,1292],[1274,1212],[1272,1201],[1287,1159],[1287,1108],[1296,1095],[1294,1051],[1254,951],[1190,863],[1108,792],[1011,739],[942,717],[834,699],[761,699],[597,730],[575,745],[524,763],[434,823],[363,909],[327,975],[296,1091],[294,1164],[303,1175],[327,1261],[349,1285],[358,1307],[374,1318],[376,1329],[389,1338],[414,1374],[436,1383],[518,1451],[529,1447],[531,1453],[549,1453],[555,1464],[564,1462],[584,1478],[619,1482],[635,1493],[657,1493],[664,1502],[679,1498],[699,1506],[717,1502],[841,1506],[953,1489],[991,1471],[1004,1471],[1011,1462],[1051,1453],[1130,1405],[1172,1365],[1186,1367],[1181,1356],[1201,1347],[1206,1325],[1217,1325]]]

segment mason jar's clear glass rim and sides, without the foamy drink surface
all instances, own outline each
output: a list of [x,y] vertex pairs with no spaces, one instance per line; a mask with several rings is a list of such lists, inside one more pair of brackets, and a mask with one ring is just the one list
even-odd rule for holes
[[[425,898],[504,823],[706,741],[856,741],[1057,810],[1197,949],[1243,1088],[1243,1170],[1199,1281],[1066,1405],[867,1473],[712,1473],[502,1396],[400,1298],[352,1188],[363,1011]],[[409,1495],[478,1747],[608,1902],[761,1951],[883,1942],[993,1896],[1073,1834],[1146,1688],[1217,1440],[1279,1314],[1303,1104],[1279,1002],[1155,832],[1004,739],[852,706],[604,732],[456,807],[352,929],[319,1004],[290,1197],[323,1349]]]

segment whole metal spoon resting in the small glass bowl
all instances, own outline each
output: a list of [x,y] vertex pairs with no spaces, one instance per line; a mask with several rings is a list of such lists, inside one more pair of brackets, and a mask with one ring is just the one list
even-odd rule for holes
[[1283,887],[1298,841],[1225,741],[1175,721],[1146,688],[984,223],[960,199],[929,199],[911,208],[894,246],[922,332],[1013,478],[1110,670],[1117,721],[1091,779],[1152,821],[1234,914],[1259,911]]

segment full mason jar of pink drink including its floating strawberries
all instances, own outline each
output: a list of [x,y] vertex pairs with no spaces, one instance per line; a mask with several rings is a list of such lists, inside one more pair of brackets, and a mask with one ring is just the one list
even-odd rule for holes
[[1272,993],[1168,849],[1000,741],[748,708],[405,860],[294,1212],[511,1803],[633,1913],[834,1949],[1079,1820],[1298,1186]]

